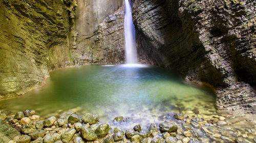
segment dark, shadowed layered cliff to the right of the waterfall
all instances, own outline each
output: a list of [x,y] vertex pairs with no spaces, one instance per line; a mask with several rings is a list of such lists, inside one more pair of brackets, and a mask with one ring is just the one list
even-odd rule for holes
[[220,108],[255,113],[255,6],[255,1],[135,0],[140,62],[214,85]]

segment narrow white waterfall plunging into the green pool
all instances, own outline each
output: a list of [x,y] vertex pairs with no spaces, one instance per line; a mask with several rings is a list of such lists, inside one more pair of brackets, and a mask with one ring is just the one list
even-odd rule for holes
[[137,49],[135,38],[135,27],[133,24],[132,8],[129,0],[125,2],[124,15],[124,38],[125,38],[125,60],[126,64],[137,64]]

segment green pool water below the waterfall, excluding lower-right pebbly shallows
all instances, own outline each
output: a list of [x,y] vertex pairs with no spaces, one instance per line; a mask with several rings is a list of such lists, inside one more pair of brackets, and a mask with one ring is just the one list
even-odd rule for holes
[[214,96],[158,67],[91,65],[53,71],[43,88],[0,105],[13,112],[34,109],[41,116],[75,110],[98,113],[105,122],[116,116],[154,122],[164,113],[195,107],[215,112],[214,102]]

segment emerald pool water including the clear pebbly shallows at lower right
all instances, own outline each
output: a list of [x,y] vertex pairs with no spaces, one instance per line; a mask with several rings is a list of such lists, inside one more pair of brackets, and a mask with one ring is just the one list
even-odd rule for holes
[[[114,127],[131,129],[140,124],[146,130],[151,123],[167,120],[184,128],[184,123],[201,118],[201,127],[192,126],[203,142],[252,141],[256,132],[256,118],[233,117],[217,112],[215,95],[186,83],[178,73],[147,66],[90,65],[55,70],[41,89],[26,95],[0,100],[0,110],[13,113],[33,109],[42,118],[66,111],[97,113],[100,122]],[[174,114],[183,113],[184,120]],[[113,119],[123,116],[122,122]],[[224,116],[225,126],[218,126]]]

